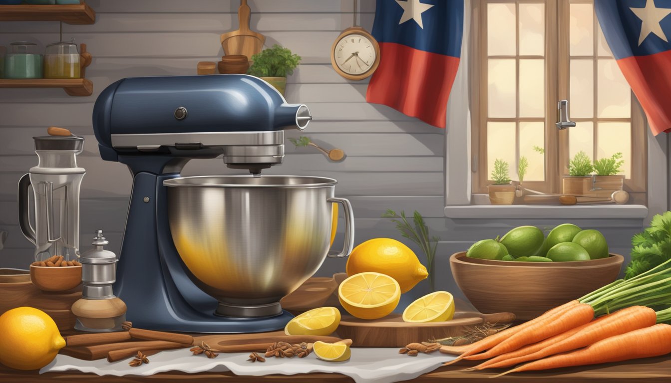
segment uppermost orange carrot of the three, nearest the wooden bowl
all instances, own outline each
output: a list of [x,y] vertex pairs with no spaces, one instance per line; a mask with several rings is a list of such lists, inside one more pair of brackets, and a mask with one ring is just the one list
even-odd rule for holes
[[471,355],[464,359],[482,360],[494,358],[497,355],[515,351],[525,345],[548,339],[554,335],[564,333],[570,329],[589,323],[592,318],[594,318],[594,309],[586,303],[580,303],[569,307],[567,311],[564,311],[559,316],[546,317],[542,321],[537,321],[536,323],[525,327],[484,353]]

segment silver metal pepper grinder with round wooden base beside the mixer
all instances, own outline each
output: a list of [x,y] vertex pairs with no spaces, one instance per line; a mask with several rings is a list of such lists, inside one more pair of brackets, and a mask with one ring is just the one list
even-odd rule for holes
[[81,331],[104,333],[121,331],[125,321],[126,305],[114,296],[112,284],[116,280],[117,257],[103,250],[109,242],[103,231],[97,230],[93,238],[95,248],[82,254],[82,298],[72,305],[77,320],[74,328]]

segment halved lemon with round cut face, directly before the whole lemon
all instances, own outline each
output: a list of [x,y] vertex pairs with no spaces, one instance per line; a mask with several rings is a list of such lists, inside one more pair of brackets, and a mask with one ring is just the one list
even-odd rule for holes
[[401,298],[401,287],[391,276],[378,272],[354,274],[338,287],[340,304],[360,319],[378,319],[389,315]]

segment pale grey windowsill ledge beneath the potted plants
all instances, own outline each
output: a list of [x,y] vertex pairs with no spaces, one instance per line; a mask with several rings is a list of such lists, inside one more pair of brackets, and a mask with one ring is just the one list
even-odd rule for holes
[[[478,199],[476,199],[478,200]],[[539,219],[643,219],[644,205],[452,205],[445,207],[448,218],[539,218]]]

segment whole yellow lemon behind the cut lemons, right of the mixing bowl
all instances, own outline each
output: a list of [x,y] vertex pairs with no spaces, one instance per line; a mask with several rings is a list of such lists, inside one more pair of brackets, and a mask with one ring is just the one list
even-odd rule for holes
[[374,238],[360,243],[347,260],[348,276],[378,272],[394,278],[401,293],[409,291],[429,273],[417,256],[403,243],[391,238]]

